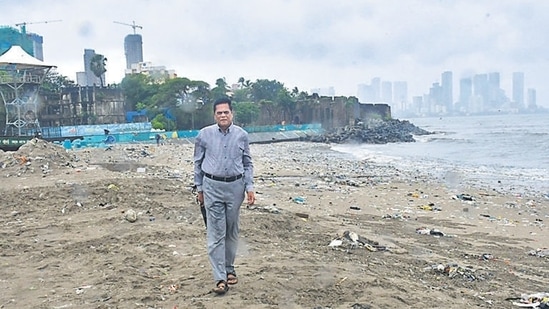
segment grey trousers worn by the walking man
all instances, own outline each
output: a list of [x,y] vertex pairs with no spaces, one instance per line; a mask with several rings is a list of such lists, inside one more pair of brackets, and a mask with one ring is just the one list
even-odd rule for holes
[[208,257],[213,277],[216,282],[227,280],[227,273],[234,272],[240,205],[246,195],[244,178],[223,182],[204,177],[202,189],[208,217]]

